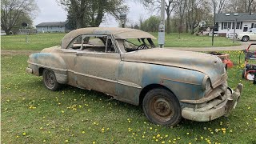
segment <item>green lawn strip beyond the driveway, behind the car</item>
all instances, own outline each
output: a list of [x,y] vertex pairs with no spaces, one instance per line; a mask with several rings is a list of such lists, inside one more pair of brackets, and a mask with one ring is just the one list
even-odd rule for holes
[[[152,33],[158,38],[158,33]],[[26,43],[25,35],[1,36],[2,50],[42,50],[50,46],[60,45],[65,34],[35,34],[28,35],[29,43]],[[158,40],[154,40],[158,46]],[[232,40],[223,37],[214,37],[214,46],[238,46],[239,42],[233,43]],[[211,37],[195,36],[191,34],[181,34],[178,38],[177,33],[166,34],[166,47],[206,47],[211,46]]]

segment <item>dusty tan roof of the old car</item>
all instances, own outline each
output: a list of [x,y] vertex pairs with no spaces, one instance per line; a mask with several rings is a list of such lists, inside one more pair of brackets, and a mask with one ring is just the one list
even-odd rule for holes
[[87,27],[70,31],[62,38],[62,48],[70,44],[70,42],[79,35],[113,35],[116,39],[129,38],[151,38],[156,39],[153,35],[136,29],[120,28],[120,27]]

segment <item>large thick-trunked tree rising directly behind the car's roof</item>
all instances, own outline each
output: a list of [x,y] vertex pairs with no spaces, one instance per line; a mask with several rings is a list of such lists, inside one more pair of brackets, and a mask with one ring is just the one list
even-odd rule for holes
[[123,0],[57,0],[68,12],[67,21],[76,28],[99,26],[106,14],[118,19],[128,10]]

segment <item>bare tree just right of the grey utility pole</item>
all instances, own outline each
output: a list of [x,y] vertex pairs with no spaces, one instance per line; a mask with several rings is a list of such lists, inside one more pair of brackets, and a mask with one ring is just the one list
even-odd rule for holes
[[[166,10],[166,32],[167,34],[170,34],[170,14],[173,12],[176,2],[178,0],[165,0],[165,10]],[[144,6],[146,6],[150,10],[160,10],[161,7],[161,0],[140,0]]]

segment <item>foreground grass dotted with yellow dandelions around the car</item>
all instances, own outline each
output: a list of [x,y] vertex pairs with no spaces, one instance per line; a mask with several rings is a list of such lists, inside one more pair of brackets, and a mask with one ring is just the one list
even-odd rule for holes
[[242,80],[238,52],[227,53],[236,64],[230,87],[245,86],[237,108],[229,118],[174,127],[151,124],[142,107],[95,91],[46,90],[42,78],[26,74],[27,56],[2,56],[1,143],[255,143],[255,85]]

